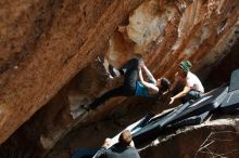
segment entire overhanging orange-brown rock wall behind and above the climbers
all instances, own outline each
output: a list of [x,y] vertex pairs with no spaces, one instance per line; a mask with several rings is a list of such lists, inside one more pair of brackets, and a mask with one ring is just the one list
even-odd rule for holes
[[205,77],[238,36],[238,0],[141,2],[1,1],[0,142],[43,105],[18,133],[35,133],[23,140],[46,150],[75,124],[118,105],[121,113],[136,109],[140,100],[118,97],[84,121],[72,118],[71,109],[121,82],[109,79],[109,63],[120,67],[138,52],[155,77],[172,78],[188,58]]

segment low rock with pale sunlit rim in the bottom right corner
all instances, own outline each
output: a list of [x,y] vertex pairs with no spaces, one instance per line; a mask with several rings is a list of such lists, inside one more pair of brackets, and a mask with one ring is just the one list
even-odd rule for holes
[[162,135],[151,146],[142,149],[142,158],[237,158],[239,129],[238,116],[226,116],[200,126]]

